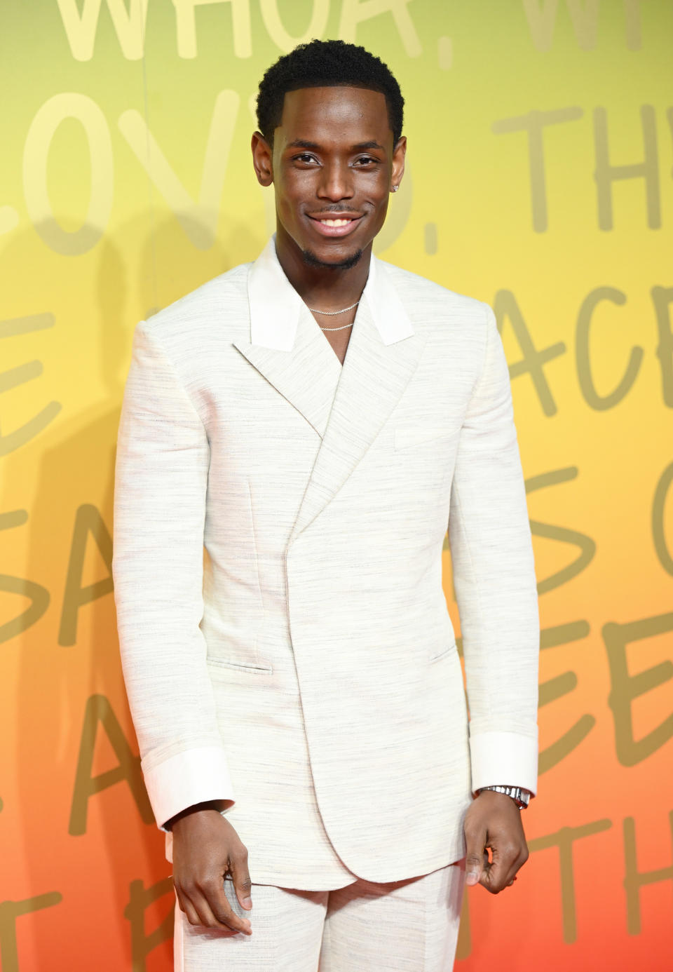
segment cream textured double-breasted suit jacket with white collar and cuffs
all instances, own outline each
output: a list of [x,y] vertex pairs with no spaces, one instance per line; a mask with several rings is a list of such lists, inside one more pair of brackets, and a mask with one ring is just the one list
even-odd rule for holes
[[463,855],[474,789],[535,791],[536,580],[488,304],[372,257],[342,366],[272,238],[137,326],[114,541],[156,820],[232,800],[253,882],[425,874]]

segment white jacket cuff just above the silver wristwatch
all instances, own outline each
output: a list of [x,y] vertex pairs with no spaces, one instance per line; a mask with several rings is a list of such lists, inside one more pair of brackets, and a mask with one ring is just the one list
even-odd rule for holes
[[516,732],[470,735],[472,792],[482,786],[521,786],[537,792],[537,727],[535,736]]

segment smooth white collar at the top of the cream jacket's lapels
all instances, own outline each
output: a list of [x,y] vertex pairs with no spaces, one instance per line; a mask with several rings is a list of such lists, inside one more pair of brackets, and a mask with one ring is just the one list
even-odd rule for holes
[[[251,343],[291,351],[300,314],[310,313],[287,280],[276,255],[276,234],[251,265],[248,274]],[[387,273],[386,264],[372,255],[361,300],[366,300],[384,344],[414,333],[412,323]]]

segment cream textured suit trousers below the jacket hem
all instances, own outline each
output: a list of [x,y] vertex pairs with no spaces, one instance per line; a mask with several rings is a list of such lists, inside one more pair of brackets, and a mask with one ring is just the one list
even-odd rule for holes
[[464,861],[411,881],[332,891],[252,886],[252,935],[190,925],[175,907],[176,972],[451,972]]

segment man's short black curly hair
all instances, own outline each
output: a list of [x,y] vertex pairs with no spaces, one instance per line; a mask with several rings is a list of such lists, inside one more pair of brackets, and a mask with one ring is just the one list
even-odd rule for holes
[[387,64],[345,41],[309,41],[272,64],[259,84],[257,125],[269,145],[281,123],[287,91],[300,87],[366,87],[386,96],[392,144],[402,134],[404,98]]

